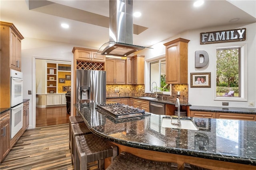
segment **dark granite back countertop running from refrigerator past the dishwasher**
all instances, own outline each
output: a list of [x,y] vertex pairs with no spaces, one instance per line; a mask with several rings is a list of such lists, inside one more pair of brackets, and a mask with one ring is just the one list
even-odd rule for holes
[[[134,98],[134,99],[140,99],[140,100],[147,100],[150,102],[157,102],[157,103],[162,103],[162,104],[176,104],[176,100],[166,100],[166,99],[143,99],[141,97],[148,97],[148,96],[118,96],[118,95],[112,95],[112,96],[106,96],[107,99],[112,99],[112,98]],[[180,101],[180,106],[191,106],[188,102]]]

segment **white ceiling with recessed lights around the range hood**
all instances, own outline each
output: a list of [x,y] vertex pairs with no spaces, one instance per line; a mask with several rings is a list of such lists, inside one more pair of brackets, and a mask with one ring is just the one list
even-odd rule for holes
[[[193,7],[194,2],[133,0],[133,12],[142,13],[133,19],[137,33],[133,35],[133,44],[150,47],[190,29],[256,22],[255,0],[206,0],[198,8]],[[14,23],[25,38],[94,49],[109,41],[108,17],[108,0],[0,0],[0,20]],[[231,22],[234,18],[240,20]],[[70,27],[63,29],[61,23]],[[141,28],[146,30],[140,31]]]

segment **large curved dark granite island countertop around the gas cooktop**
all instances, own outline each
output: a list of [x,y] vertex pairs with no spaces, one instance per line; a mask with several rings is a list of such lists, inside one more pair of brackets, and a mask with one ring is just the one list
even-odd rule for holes
[[93,133],[120,145],[256,166],[256,121],[189,117],[194,131],[162,127],[165,115],[115,120],[96,103],[74,106]]

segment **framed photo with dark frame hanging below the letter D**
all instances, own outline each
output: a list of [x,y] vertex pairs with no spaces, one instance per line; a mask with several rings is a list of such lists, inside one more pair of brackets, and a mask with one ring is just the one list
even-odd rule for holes
[[211,87],[210,72],[190,73],[190,87]]

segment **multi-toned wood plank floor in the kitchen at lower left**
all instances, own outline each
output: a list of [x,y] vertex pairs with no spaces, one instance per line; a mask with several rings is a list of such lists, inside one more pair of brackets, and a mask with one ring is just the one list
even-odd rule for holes
[[68,133],[68,123],[26,130],[0,169],[73,170]]

